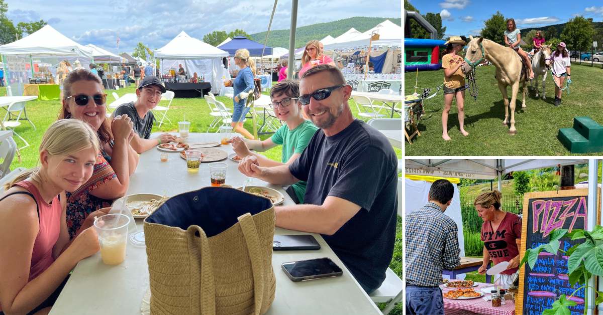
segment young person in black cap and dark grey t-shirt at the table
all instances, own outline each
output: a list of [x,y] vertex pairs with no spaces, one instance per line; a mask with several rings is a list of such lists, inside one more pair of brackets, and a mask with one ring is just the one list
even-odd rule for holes
[[149,139],[151,129],[153,129],[153,120],[155,119],[151,110],[159,104],[161,95],[165,91],[165,87],[156,76],[147,75],[136,90],[136,96],[138,96],[136,102],[119,105],[113,112],[113,116],[128,114],[128,117],[131,117],[136,135],[134,135],[130,145],[138,153],[175,140],[175,137],[171,134],[162,134],[155,139]]

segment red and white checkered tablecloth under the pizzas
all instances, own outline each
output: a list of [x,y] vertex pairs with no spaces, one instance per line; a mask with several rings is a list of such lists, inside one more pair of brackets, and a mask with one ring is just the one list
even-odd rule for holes
[[[479,292],[482,287],[486,287],[488,283],[477,282],[478,286],[475,287],[475,291]],[[445,293],[453,288],[444,287],[440,285],[442,291]],[[488,295],[484,295],[488,296]],[[446,315],[470,315],[470,314],[483,314],[483,315],[515,315],[515,302],[507,301],[507,304],[500,305],[500,307],[492,307],[491,301],[484,301],[484,298],[475,298],[467,300],[451,300],[444,298],[444,314]]]

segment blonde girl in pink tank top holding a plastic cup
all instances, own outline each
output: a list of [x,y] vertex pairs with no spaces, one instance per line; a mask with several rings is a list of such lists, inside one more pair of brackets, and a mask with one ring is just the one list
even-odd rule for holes
[[69,271],[99,250],[92,220],[71,243],[65,220],[65,191],[92,175],[96,132],[81,120],[58,120],[39,151],[40,166],[17,176],[0,197],[0,314],[48,313]]

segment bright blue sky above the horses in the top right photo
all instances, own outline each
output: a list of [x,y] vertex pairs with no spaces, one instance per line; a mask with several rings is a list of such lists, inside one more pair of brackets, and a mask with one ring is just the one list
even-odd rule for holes
[[[603,21],[601,0],[409,0],[421,14],[440,13],[445,37],[474,35],[484,27],[484,21],[500,11],[515,19],[518,28],[543,27],[567,22],[573,16],[592,17]],[[493,5],[498,4],[498,5]]]

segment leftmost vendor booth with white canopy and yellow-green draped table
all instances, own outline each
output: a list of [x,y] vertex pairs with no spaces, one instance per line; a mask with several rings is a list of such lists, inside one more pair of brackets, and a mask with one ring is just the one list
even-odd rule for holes
[[58,99],[60,84],[68,71],[77,64],[88,68],[92,49],[82,46],[45,25],[40,30],[16,42],[0,46],[4,63],[7,94],[22,95],[26,84],[46,84],[28,87],[27,93],[37,93],[40,99]]

